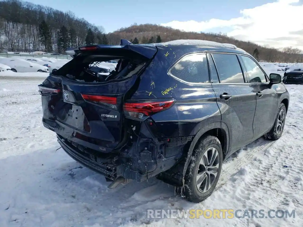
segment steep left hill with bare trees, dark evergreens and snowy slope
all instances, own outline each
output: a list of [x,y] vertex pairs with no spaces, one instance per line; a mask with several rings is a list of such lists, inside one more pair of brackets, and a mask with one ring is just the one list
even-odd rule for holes
[[104,28],[73,12],[19,0],[0,1],[0,51],[64,52],[85,43],[103,43]]

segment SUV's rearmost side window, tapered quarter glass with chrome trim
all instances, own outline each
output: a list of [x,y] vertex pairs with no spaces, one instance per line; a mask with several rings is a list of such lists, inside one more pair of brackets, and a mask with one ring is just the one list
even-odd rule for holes
[[171,68],[170,73],[186,82],[209,83],[206,54],[186,56]]

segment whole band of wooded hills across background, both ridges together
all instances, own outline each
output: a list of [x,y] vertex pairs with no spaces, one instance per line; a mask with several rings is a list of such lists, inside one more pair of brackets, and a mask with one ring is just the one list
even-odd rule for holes
[[201,39],[235,44],[259,61],[302,62],[301,50],[266,48],[224,34],[185,32],[153,24],[131,25],[105,34],[102,26],[90,24],[72,12],[19,0],[0,1],[0,51],[46,51],[64,53],[85,44],[159,43],[177,39]]

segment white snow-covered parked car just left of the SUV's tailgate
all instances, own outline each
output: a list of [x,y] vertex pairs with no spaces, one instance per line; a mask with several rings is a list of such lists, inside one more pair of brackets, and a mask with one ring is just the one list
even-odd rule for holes
[[11,67],[13,72],[48,72],[48,67],[18,58],[1,58],[0,63]]

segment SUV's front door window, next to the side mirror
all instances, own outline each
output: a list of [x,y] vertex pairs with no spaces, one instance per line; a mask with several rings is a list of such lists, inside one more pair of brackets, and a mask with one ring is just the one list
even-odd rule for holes
[[247,56],[241,56],[241,58],[248,73],[249,83],[266,83],[265,74],[257,63]]

